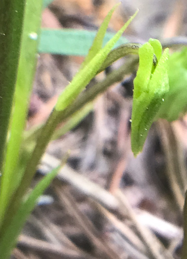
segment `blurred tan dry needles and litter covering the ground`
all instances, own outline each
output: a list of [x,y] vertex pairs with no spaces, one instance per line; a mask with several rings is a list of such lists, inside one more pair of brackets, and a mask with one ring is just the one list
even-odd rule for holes
[[[54,0],[42,27],[96,31],[115,0]],[[109,32],[137,9],[130,42],[187,34],[185,0],[122,0]],[[47,42],[46,42],[47,44]],[[39,125],[84,57],[39,54],[28,129]],[[120,67],[121,59],[88,87]],[[136,158],[130,146],[133,79],[129,74],[95,101],[71,131],[51,142],[35,181],[70,150],[67,165],[38,201],[12,259],[178,259],[187,184],[187,116],[153,123]],[[187,82],[184,82],[186,84]],[[35,184],[35,183],[33,183]]]

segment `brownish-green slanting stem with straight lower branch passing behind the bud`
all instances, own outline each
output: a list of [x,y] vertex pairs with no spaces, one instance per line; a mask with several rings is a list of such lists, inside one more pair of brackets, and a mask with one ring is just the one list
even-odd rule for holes
[[4,219],[3,227],[0,229],[0,236],[3,236],[4,231],[6,231],[6,227],[8,226],[11,218],[19,207],[23,195],[25,194],[27,188],[30,186],[31,181],[35,175],[39,160],[41,159],[41,156],[45,151],[45,148],[47,147],[57,125],[60,122],[66,120],[72,114],[74,114],[75,111],[78,111],[82,107],[84,107],[86,103],[94,100],[99,94],[103,93],[113,83],[121,81],[125,74],[132,73],[137,63],[138,58],[126,62],[123,66],[119,68],[119,70],[113,71],[111,74],[109,74],[105,80],[95,84],[92,88],[79,95],[71,108],[67,108],[64,111],[52,111],[46,124],[39,130],[36,147],[32,152],[32,156],[28,162],[19,188],[12,197],[9,208],[6,212],[7,217],[6,219]]

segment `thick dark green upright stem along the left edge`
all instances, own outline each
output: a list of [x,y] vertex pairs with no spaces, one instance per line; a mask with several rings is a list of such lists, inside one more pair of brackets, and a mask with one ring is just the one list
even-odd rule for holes
[[25,0],[0,0],[0,170],[18,69]]

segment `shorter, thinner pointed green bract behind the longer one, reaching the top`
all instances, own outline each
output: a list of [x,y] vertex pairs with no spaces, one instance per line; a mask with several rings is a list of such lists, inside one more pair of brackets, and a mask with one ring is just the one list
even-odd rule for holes
[[109,22],[111,20],[112,14],[113,14],[114,10],[117,8],[117,6],[119,6],[119,4],[120,3],[116,3],[113,6],[113,8],[109,11],[109,13],[105,17],[104,21],[102,22],[102,24],[96,34],[96,37],[94,38],[92,46],[88,52],[88,55],[86,56],[86,58],[84,59],[84,62],[81,65],[81,68],[83,68],[86,64],[88,64],[92,60],[92,58],[99,52],[99,50],[101,50],[102,45],[103,45],[103,39],[107,32],[107,28],[108,28]]

